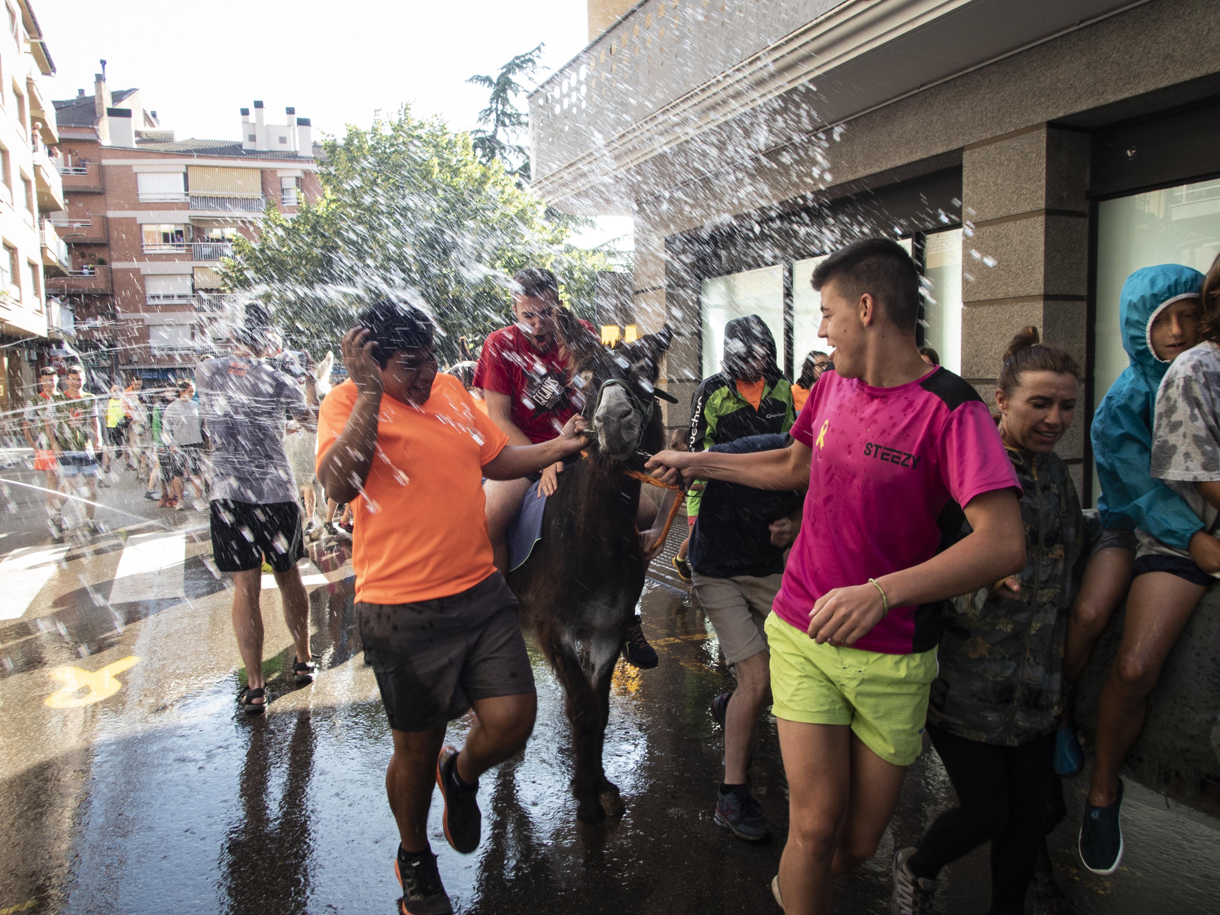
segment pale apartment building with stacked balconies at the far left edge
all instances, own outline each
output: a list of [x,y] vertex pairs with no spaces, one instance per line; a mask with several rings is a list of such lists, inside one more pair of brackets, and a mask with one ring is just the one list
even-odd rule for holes
[[48,299],[44,270],[61,272],[67,249],[46,221],[63,209],[54,167],[55,109],[40,77],[55,72],[27,0],[0,0],[0,411],[22,403],[71,311]]

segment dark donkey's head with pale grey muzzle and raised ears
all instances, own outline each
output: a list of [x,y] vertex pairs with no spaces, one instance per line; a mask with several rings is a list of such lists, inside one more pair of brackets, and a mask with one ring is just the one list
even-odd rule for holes
[[676,403],[656,388],[661,356],[670,348],[670,328],[606,349],[567,311],[560,310],[558,327],[593,432],[589,450],[611,461],[659,451],[664,425],[656,400]]

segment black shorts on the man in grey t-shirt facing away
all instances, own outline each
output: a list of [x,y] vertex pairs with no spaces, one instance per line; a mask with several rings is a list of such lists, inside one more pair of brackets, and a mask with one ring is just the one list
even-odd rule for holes
[[214,499],[212,559],[222,572],[249,572],[266,558],[277,572],[287,572],[305,555],[301,512],[294,501],[253,505]]

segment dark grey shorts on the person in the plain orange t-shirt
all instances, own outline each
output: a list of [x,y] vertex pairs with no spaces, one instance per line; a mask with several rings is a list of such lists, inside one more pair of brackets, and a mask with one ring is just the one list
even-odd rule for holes
[[517,599],[499,572],[448,598],[357,603],[356,625],[395,731],[427,731],[477,699],[534,692]]

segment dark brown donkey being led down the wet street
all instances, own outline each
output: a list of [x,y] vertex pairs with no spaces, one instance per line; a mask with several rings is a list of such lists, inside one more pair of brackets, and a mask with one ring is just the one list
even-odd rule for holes
[[542,542],[508,581],[521,603],[522,626],[567,694],[576,816],[595,825],[622,813],[619,788],[601,766],[601,747],[615,661],[644,588],[636,531],[640,483],[625,471],[642,471],[648,455],[664,447],[656,398],[671,398],[654,386],[671,333],[666,327],[608,350],[566,312],[559,327],[590,442],[547,500]]

